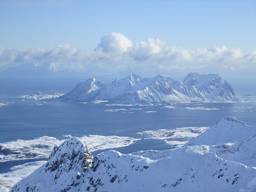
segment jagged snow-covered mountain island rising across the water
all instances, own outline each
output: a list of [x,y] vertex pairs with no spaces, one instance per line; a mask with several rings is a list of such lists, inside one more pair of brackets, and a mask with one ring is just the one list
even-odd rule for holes
[[59,97],[75,102],[106,101],[112,104],[238,101],[231,86],[219,75],[189,73],[183,82],[158,75],[143,78],[131,74],[112,83],[88,79]]

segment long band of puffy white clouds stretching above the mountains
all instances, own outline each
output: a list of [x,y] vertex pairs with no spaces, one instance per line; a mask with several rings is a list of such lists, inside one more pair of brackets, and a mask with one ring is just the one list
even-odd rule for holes
[[101,36],[99,44],[92,51],[79,50],[70,44],[58,45],[53,50],[33,48],[27,51],[0,46],[0,65],[13,63],[36,63],[37,66],[55,63],[79,70],[108,69],[109,72],[121,72],[125,69],[130,69],[131,72],[140,69],[145,73],[167,73],[174,70],[216,73],[223,69],[255,71],[256,50],[244,54],[240,48],[228,48],[225,45],[209,49],[186,49],[167,46],[160,39],[148,38],[133,42],[120,33],[111,33]]

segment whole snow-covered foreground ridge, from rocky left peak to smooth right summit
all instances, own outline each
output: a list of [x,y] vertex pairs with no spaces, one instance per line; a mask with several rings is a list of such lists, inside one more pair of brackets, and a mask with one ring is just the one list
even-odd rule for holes
[[93,157],[72,137],[11,191],[255,191],[255,146],[256,127],[234,117],[165,151],[112,150]]

